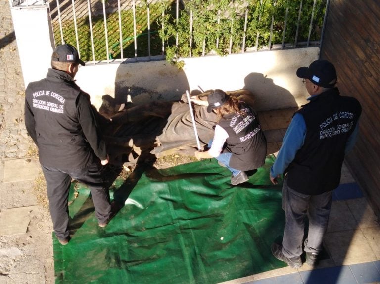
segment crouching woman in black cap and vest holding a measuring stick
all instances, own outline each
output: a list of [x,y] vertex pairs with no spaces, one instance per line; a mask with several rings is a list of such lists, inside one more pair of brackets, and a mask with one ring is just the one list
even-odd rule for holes
[[196,151],[195,157],[216,158],[219,164],[232,172],[232,185],[246,182],[248,176],[245,171],[264,165],[267,153],[267,141],[257,114],[248,104],[228,96],[220,89],[207,96],[207,103],[199,99],[191,101],[207,105],[207,111],[214,111],[219,117],[210,149]]

